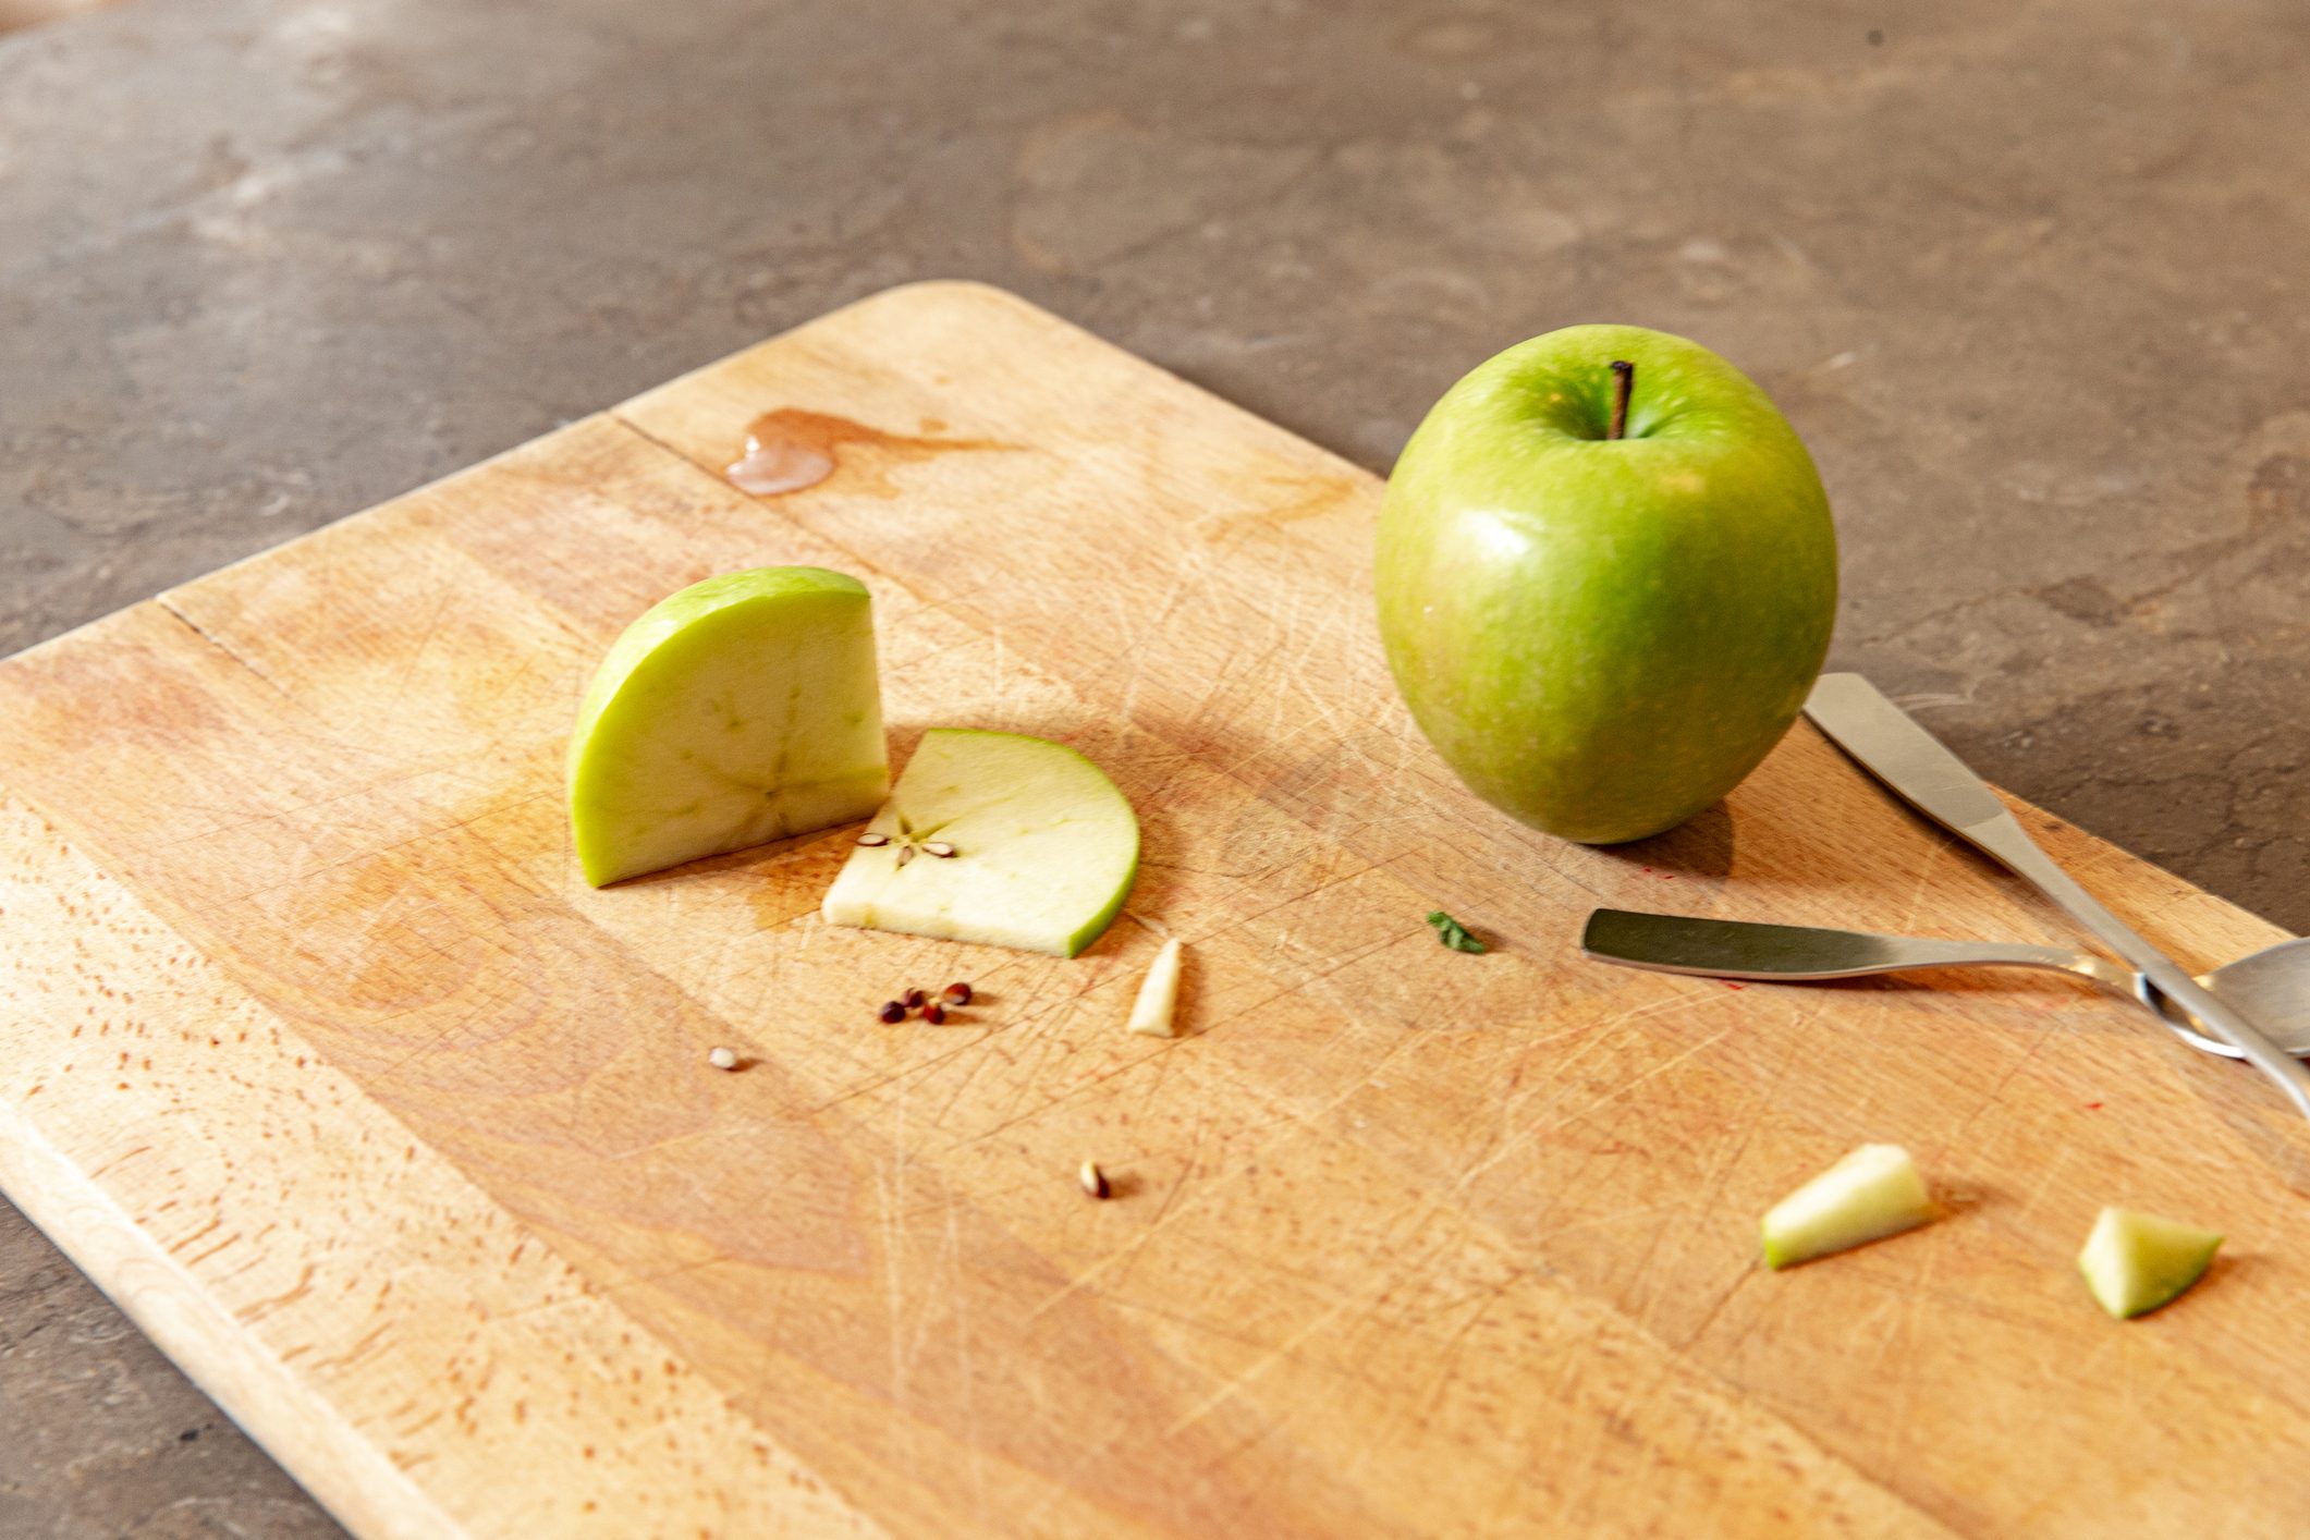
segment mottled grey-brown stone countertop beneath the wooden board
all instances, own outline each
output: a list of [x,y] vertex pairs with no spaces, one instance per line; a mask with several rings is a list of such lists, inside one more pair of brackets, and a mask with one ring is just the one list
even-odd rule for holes
[[[903,279],[1374,471],[1642,321],[1813,446],[1836,665],[2301,928],[2305,79],[2298,0],[134,0],[0,37],[0,653]],[[5,1205],[0,1427],[7,1535],[330,1531]]]

